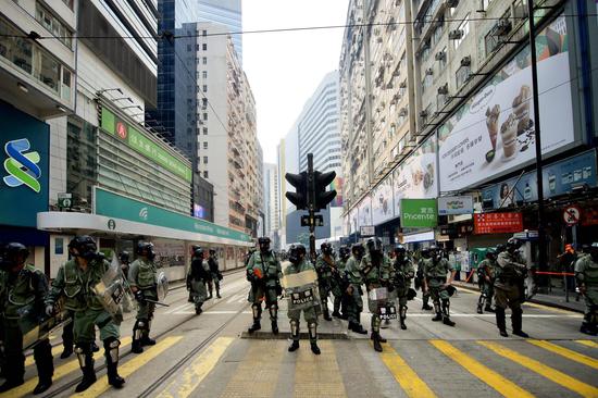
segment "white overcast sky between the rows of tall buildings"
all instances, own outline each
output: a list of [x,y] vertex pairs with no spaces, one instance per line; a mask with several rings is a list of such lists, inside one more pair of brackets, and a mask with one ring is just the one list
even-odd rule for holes
[[[349,0],[242,0],[242,29],[345,25]],[[242,67],[256,98],[264,162],[326,73],[337,70],[344,28],[246,34]]]

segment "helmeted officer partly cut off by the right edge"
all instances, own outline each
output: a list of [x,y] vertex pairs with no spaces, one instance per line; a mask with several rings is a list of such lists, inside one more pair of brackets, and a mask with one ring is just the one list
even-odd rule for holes
[[596,336],[598,334],[598,242],[588,248],[589,254],[575,263],[575,279],[580,293],[586,301],[586,311],[580,332]]

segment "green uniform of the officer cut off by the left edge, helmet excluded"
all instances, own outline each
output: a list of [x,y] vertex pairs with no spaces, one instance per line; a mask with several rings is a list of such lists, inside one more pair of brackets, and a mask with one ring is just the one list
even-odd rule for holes
[[[22,312],[43,313],[43,299],[48,294],[46,275],[34,265],[26,264],[18,273],[0,271],[0,326],[8,366],[7,381],[23,382],[25,356],[23,355]],[[20,322],[21,319],[21,322]],[[48,338],[34,348],[34,358],[40,381],[51,381],[54,373],[52,348]]]

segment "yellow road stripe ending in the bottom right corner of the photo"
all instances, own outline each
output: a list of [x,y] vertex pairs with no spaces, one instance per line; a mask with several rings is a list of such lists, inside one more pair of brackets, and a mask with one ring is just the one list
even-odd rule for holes
[[504,348],[503,346],[490,343],[490,341],[477,341],[479,345],[495,351],[499,356],[507,358],[520,365],[527,368],[532,372],[544,376],[551,382],[560,384],[561,386],[571,389],[584,397],[598,397],[598,388],[590,386],[584,382],[573,378],[553,368],[547,366],[541,362],[538,362],[530,357],[522,356],[519,352],[515,352],[511,349]]

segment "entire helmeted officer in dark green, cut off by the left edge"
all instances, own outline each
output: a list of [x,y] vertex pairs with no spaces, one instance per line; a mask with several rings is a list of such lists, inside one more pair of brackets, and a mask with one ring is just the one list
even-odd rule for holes
[[[2,328],[4,356],[8,366],[4,369],[7,381],[0,386],[0,393],[24,383],[25,356],[23,355],[23,322],[25,311],[33,312],[35,319],[43,313],[43,299],[48,294],[46,275],[32,264],[26,264],[29,251],[17,242],[8,244],[0,262],[0,326]],[[54,366],[52,347],[45,338],[34,347],[34,359],[39,382],[34,394],[41,394],[52,385]]]

